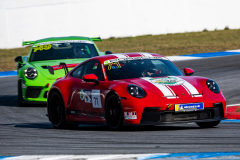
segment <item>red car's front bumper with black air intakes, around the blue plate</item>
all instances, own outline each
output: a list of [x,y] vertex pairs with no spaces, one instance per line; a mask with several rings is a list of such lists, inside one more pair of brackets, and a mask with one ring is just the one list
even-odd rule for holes
[[[124,124],[158,125],[178,122],[207,122],[226,119],[226,100],[199,97],[166,100],[122,99]],[[175,104],[203,102],[204,109],[191,112],[175,112]],[[171,104],[171,105],[170,105]]]

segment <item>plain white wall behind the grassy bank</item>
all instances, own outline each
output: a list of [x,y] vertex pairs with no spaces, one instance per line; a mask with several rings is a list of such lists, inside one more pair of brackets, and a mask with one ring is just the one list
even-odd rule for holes
[[54,36],[237,29],[239,7],[239,0],[0,0],[0,48]]

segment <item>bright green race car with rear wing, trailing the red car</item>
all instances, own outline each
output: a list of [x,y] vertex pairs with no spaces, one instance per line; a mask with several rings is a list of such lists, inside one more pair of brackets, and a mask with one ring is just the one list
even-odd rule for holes
[[112,54],[110,51],[99,52],[94,41],[101,39],[74,36],[23,42],[23,46],[32,45],[32,47],[28,56],[15,58],[18,63],[19,104],[46,103],[47,93],[52,84],[57,78],[65,75],[62,69],[56,70],[54,75],[50,74],[48,66],[56,66],[60,63],[78,64],[91,57]]

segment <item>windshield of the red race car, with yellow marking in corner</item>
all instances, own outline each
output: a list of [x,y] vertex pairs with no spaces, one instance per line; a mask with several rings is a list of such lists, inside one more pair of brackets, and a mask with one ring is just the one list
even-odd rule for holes
[[172,62],[163,59],[116,61],[104,66],[108,80],[184,75]]

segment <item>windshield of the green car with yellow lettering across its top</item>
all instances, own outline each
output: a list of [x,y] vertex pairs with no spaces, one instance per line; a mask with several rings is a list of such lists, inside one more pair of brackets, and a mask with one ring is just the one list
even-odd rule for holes
[[93,44],[89,43],[53,43],[34,47],[30,61],[57,59],[78,59],[98,56]]

